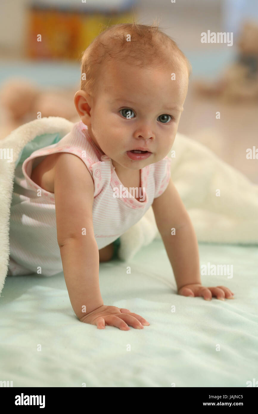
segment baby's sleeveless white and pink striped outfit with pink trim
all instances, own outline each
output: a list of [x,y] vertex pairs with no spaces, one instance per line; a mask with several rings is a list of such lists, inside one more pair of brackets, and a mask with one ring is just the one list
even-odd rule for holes
[[[142,201],[129,195],[119,180],[112,160],[101,152],[89,136],[82,121],[59,142],[34,151],[15,169],[10,212],[10,261],[8,274],[42,274],[53,276],[62,272],[57,242],[55,195],[31,180],[31,171],[45,156],[69,152],[82,159],[94,180],[93,226],[98,248],[101,249],[139,221],[166,189],[171,176],[171,158],[140,170]],[[75,183],[76,185],[76,183]],[[126,197],[114,193],[121,189]],[[117,194],[116,197],[114,194]],[[138,197],[135,195],[135,197]]]

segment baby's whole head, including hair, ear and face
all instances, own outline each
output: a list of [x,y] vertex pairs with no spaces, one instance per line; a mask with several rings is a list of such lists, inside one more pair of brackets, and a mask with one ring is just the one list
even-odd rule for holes
[[[157,26],[111,26],[84,51],[81,71],[75,107],[113,165],[139,170],[163,159],[174,143],[191,73],[176,43]],[[130,158],[128,151],[138,148],[151,154]]]

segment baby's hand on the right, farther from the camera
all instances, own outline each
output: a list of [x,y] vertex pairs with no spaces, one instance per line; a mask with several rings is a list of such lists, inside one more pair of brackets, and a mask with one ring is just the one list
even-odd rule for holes
[[178,290],[179,295],[183,296],[203,296],[206,301],[211,301],[212,296],[217,296],[217,299],[224,301],[226,299],[234,299],[234,293],[225,286],[206,287],[200,283],[193,283],[182,286]]

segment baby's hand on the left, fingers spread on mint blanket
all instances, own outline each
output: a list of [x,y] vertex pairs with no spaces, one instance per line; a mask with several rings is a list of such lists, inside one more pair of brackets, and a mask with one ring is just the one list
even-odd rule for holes
[[[105,325],[116,326],[123,331],[128,331],[128,325],[135,329],[142,329],[142,325],[149,325],[149,322],[129,309],[117,308],[116,306],[102,305],[99,308],[80,318],[81,322],[96,325],[98,329],[105,329]],[[128,323],[128,325],[127,325]]]

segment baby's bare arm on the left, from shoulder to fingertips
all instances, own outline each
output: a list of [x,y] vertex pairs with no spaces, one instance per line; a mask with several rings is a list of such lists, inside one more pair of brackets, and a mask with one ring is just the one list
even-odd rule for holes
[[57,241],[65,283],[77,318],[97,325],[99,329],[112,325],[128,330],[127,323],[142,329],[140,322],[146,321],[140,315],[103,304],[99,288],[99,250],[92,219],[94,183],[85,164],[76,155],[58,155],[54,192]]

